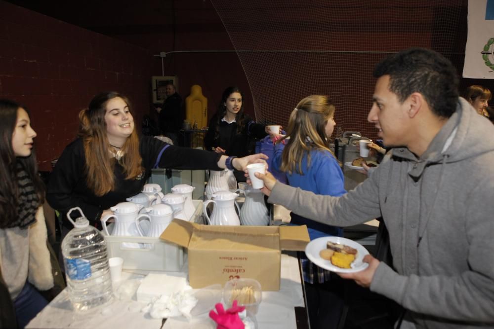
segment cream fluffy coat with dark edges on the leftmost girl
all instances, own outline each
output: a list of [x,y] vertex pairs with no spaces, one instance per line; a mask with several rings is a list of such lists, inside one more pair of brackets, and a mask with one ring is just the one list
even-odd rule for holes
[[[29,226],[29,271],[28,281],[47,300],[53,299],[65,288],[60,266],[53,249],[48,244],[43,207],[36,213],[36,222]],[[8,287],[1,274],[0,250],[0,328],[15,328],[15,311]]]

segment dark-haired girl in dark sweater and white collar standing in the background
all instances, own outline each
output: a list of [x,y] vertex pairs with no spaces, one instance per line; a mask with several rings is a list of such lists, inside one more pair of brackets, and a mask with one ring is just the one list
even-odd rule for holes
[[[220,154],[246,156],[253,151],[255,138],[268,135],[266,125],[255,121],[244,111],[244,94],[238,87],[223,91],[218,110],[209,121],[204,139],[207,150]],[[244,173],[235,173],[237,181],[245,182]]]

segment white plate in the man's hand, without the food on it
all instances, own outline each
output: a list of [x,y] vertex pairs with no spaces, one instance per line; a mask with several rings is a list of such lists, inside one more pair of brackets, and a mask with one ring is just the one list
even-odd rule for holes
[[[328,241],[333,243],[341,243],[343,245],[347,245],[349,247],[357,249],[357,256],[355,260],[350,264],[352,268],[340,268],[338,266],[334,266],[331,264],[330,260],[323,259],[319,256],[321,250],[326,249]],[[310,259],[314,264],[324,269],[327,269],[331,272],[339,272],[339,273],[353,273],[359,272],[363,269],[366,269],[369,264],[364,263],[362,259],[364,256],[369,255],[367,249],[361,244],[346,238],[341,238],[339,236],[325,236],[322,238],[317,238],[309,242],[307,247],[305,247],[305,255]]]

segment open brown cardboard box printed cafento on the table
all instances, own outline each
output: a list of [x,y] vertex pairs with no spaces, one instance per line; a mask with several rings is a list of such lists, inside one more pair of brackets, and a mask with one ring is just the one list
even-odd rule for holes
[[305,225],[216,226],[176,219],[160,238],[188,249],[192,288],[251,278],[263,291],[280,290],[281,251],[303,251],[310,241]]

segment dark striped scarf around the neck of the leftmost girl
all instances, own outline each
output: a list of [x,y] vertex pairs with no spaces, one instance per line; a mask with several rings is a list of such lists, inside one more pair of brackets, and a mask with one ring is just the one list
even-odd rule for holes
[[40,199],[34,189],[33,181],[20,162],[17,162],[17,182],[19,184],[17,218],[12,220],[7,227],[27,228],[36,221]]

